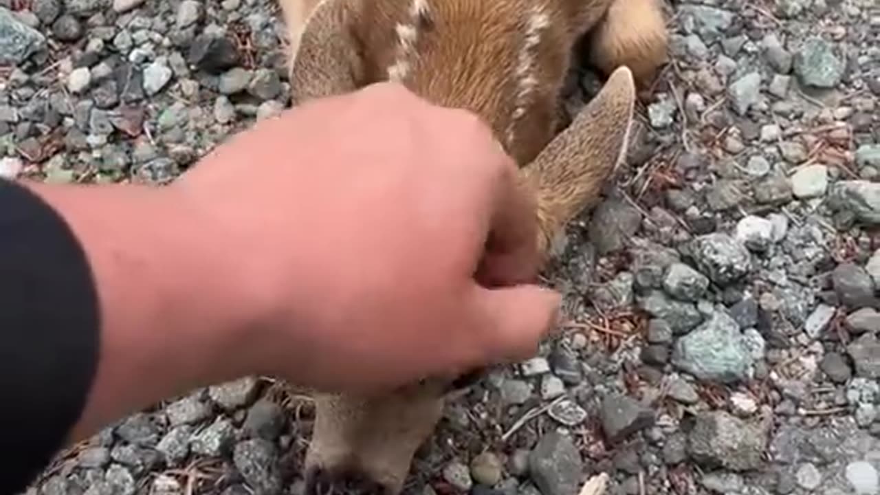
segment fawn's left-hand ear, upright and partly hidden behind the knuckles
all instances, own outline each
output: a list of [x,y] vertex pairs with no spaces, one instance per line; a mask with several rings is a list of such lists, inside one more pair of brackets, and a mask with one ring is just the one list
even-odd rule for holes
[[[352,26],[356,3],[321,0],[306,15],[302,27],[290,26],[290,99],[305,100],[352,92],[363,85],[363,58]],[[295,8],[290,1],[282,8]],[[295,18],[294,15],[288,18]],[[298,29],[298,31],[297,31]]]

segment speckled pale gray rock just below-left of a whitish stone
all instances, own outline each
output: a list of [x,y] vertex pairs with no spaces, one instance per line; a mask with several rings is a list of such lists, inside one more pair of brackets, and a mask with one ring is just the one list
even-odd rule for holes
[[700,271],[715,284],[731,284],[752,270],[749,251],[726,233],[708,233],[697,237],[693,241],[692,255]]

